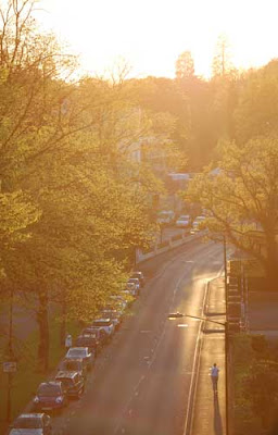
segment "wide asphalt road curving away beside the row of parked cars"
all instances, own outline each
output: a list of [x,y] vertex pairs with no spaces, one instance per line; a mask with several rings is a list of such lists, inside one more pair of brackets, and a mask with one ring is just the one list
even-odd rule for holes
[[201,325],[167,313],[202,315],[207,279],[222,265],[222,246],[192,241],[140,268],[140,299],[98,357],[85,395],[53,419],[54,434],[184,434]]

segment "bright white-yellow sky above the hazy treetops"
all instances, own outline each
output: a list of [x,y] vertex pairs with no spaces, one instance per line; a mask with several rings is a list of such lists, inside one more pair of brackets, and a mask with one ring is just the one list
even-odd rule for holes
[[233,64],[248,69],[278,58],[277,0],[42,0],[43,26],[70,42],[89,73],[119,57],[132,76],[175,76],[190,50],[195,72],[208,76],[215,42],[225,33]]

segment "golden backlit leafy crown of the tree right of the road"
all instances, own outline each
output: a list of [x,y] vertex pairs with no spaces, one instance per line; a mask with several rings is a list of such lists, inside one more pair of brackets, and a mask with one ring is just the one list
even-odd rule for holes
[[[193,179],[185,197],[201,202],[208,212],[208,228],[225,233],[236,247],[257,259],[269,287],[277,289],[278,140],[253,139],[244,147],[225,142],[219,152],[218,175],[207,169]],[[254,243],[257,229],[263,249]]]

